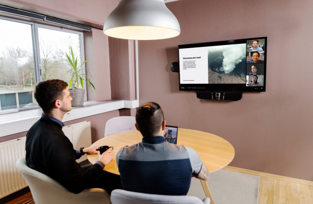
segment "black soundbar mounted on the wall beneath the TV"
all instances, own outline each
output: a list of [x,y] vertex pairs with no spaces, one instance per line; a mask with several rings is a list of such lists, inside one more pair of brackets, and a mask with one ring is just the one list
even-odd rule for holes
[[239,101],[242,98],[242,92],[198,92],[197,98]]

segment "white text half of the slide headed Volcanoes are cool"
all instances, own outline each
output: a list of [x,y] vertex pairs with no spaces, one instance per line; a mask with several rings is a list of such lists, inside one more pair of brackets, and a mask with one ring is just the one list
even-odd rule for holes
[[179,49],[181,84],[208,83],[208,47]]

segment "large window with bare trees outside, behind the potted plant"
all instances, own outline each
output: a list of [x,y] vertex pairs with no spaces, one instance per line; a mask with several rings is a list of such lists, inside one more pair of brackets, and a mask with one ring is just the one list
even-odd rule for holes
[[85,61],[82,32],[4,17],[0,28],[0,114],[37,107],[34,88],[39,81],[69,82],[65,53],[70,46],[78,64]]

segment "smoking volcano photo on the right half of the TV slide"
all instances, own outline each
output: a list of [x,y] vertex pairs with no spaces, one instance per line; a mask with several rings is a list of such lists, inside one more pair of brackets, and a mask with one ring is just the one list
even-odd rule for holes
[[246,82],[246,44],[208,47],[208,83]]

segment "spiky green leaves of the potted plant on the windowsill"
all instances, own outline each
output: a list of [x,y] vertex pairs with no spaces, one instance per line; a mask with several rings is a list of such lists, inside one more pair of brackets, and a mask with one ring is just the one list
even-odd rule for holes
[[69,64],[71,64],[72,66],[65,73],[65,75],[68,73],[72,74],[72,78],[69,81],[69,89],[71,88],[78,89],[79,82],[80,82],[81,87],[84,88],[84,83],[83,83],[84,81],[87,82],[87,85],[89,86],[90,90],[91,90],[91,87],[95,89],[95,86],[91,83],[90,78],[86,74],[82,73],[82,71],[86,69],[81,68],[81,66],[84,65],[88,60],[85,60],[81,65],[77,66],[77,56],[74,55],[72,46],[70,46],[70,50],[71,52],[69,53],[69,55],[65,53],[67,60],[69,60]]

